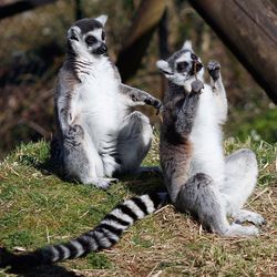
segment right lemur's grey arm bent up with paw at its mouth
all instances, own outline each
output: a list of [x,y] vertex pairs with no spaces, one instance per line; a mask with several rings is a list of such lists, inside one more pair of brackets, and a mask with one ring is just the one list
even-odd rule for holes
[[194,81],[191,93],[185,98],[177,111],[175,131],[182,136],[187,136],[192,132],[202,89],[204,89],[203,82],[199,80]]

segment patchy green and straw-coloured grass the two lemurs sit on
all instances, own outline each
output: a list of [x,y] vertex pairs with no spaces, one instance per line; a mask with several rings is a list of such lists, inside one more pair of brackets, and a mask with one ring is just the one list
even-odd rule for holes
[[[112,249],[41,267],[28,276],[275,276],[277,271],[277,145],[228,140],[227,153],[250,147],[259,164],[258,186],[247,207],[267,225],[257,238],[223,238],[202,230],[171,205],[136,223]],[[0,246],[32,250],[68,240],[95,226],[134,194],[161,188],[157,176],[125,177],[107,192],[65,183],[49,172],[49,144],[21,145],[0,164]],[[157,165],[157,141],[146,165]],[[0,269],[0,276],[14,276]]]

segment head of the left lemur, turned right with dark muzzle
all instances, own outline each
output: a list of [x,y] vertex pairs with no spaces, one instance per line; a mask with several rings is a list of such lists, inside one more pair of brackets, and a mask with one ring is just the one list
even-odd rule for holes
[[107,51],[104,24],[107,16],[81,19],[68,31],[69,50],[79,55],[102,55]]

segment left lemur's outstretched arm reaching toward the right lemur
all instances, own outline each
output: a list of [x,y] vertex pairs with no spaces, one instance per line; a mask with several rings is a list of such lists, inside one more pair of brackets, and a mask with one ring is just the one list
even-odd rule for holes
[[157,110],[162,107],[162,102],[145,91],[141,91],[123,83],[120,84],[120,91],[125,98],[129,106],[146,104],[152,105]]

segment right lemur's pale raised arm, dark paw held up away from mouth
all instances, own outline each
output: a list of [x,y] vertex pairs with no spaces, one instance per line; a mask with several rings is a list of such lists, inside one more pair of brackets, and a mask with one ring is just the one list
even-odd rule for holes
[[207,70],[211,75],[211,85],[214,92],[214,99],[217,106],[218,120],[220,121],[220,123],[224,123],[227,120],[228,104],[222,80],[219,62],[209,61]]

